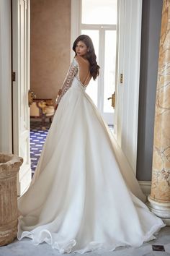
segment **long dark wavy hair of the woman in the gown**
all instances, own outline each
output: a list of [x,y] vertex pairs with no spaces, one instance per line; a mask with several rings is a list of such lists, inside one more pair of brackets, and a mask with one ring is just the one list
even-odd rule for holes
[[99,75],[99,65],[97,65],[97,56],[94,51],[94,45],[89,37],[89,35],[79,35],[78,38],[73,43],[73,51],[76,53],[76,45],[79,41],[83,41],[86,44],[86,47],[88,48],[88,52],[86,54],[86,59],[88,59],[90,64],[90,74],[91,77],[93,77],[94,80],[96,80],[97,76]]

